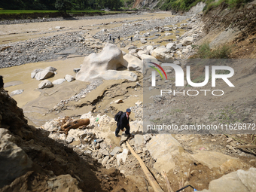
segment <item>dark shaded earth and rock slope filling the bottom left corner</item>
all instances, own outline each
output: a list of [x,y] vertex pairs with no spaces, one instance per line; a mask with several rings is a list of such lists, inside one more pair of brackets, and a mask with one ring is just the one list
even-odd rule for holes
[[3,89],[0,125],[0,191],[136,191],[117,169],[103,169],[50,139],[46,130],[29,126]]

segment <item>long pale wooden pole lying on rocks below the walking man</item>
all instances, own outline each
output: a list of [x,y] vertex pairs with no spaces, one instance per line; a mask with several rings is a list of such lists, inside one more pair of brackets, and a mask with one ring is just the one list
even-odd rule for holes
[[149,183],[151,184],[151,187],[153,187],[155,192],[163,192],[157,181],[154,179],[153,175],[151,175],[151,172],[148,171],[147,166],[145,166],[145,163],[143,163],[142,159],[139,157],[138,154],[136,154],[135,151],[133,151],[133,148],[130,146],[129,142],[126,142],[127,147],[130,149],[131,153],[136,157],[136,159],[139,161],[139,164],[142,167],[143,172],[148,178]]

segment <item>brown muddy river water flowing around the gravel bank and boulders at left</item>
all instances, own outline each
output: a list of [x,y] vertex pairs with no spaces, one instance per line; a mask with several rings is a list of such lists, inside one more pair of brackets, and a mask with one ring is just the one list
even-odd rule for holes
[[[88,35],[92,36],[102,29],[111,29],[120,26],[122,23],[118,23],[118,21],[133,21],[138,19],[152,20],[165,17],[172,17],[172,15],[170,12],[161,12],[154,14],[143,13],[139,15],[127,14],[126,18],[119,18],[118,15],[113,15],[110,18],[108,17],[107,20],[104,17],[97,20],[93,19],[92,17],[90,20],[65,20],[44,23],[2,25],[0,26],[0,44],[6,44],[15,41],[24,41],[30,38],[50,36],[65,32],[81,31],[81,29],[87,30]],[[111,23],[114,21],[117,23]],[[106,26],[104,25],[104,23],[110,24]],[[56,26],[62,26],[63,29],[56,29]],[[184,32],[181,30],[180,35],[182,35],[183,33]],[[175,35],[169,38],[175,38]],[[154,41],[152,41],[151,43],[154,44]],[[167,43],[168,42],[163,41],[163,44]],[[138,47],[142,45],[139,41],[134,42],[133,44]],[[123,50],[126,52],[128,51],[126,50],[126,48],[123,48]],[[4,76],[5,90],[8,90],[9,94],[11,94],[11,92],[14,90],[23,90],[23,93],[19,95],[14,95],[13,98],[17,101],[17,105],[20,108],[23,108],[25,115],[35,112],[29,111],[27,106],[26,108],[24,108],[24,106],[27,103],[33,103],[33,101],[35,101],[36,99],[36,103],[34,102],[33,105],[35,108],[38,108],[38,110],[40,110],[37,111],[37,117],[35,117],[35,119],[44,119],[44,117],[42,116],[44,116],[45,111],[49,110],[49,108],[53,108],[53,106],[56,105],[59,101],[74,96],[75,93],[78,93],[88,84],[82,81],[72,81],[71,83],[64,82],[63,84],[56,85],[53,88],[47,90],[47,92],[45,92],[44,90],[38,90],[38,84],[40,83],[40,81],[32,79],[31,72],[34,69],[44,69],[48,66],[52,66],[57,69],[57,74],[53,78],[50,78],[48,80],[54,81],[59,78],[64,78],[65,75],[75,75],[73,69],[78,68],[83,63],[83,60],[84,56],[74,55],[74,57],[72,57],[71,55],[69,56],[69,59],[61,59],[59,57],[59,59],[53,61],[27,63],[21,66],[0,69],[0,75]],[[49,99],[46,99],[46,96],[49,96],[47,97]],[[83,112],[86,113],[88,111]],[[49,117],[47,119],[49,119]],[[36,123],[36,125],[38,126],[42,124],[45,120],[43,120],[41,123]]]

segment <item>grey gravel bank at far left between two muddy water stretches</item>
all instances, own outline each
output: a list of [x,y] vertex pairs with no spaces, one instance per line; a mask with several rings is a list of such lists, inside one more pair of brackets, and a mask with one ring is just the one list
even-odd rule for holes
[[[66,32],[50,37],[33,38],[0,47],[0,69],[65,57],[69,53],[87,55],[94,50],[84,44],[85,32]],[[3,50],[4,49],[4,50]]]

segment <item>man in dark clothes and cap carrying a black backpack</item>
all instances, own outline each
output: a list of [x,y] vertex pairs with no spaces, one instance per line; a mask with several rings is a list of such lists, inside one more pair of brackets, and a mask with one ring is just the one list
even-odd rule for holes
[[130,108],[126,109],[126,112],[120,115],[119,120],[117,121],[117,129],[115,130],[115,136],[119,137],[118,133],[120,130],[123,131],[123,128],[126,128],[125,134],[130,136],[130,124],[129,124],[129,119],[130,119],[130,114],[131,110]]

